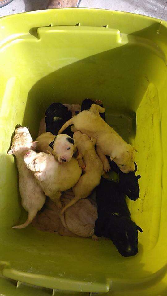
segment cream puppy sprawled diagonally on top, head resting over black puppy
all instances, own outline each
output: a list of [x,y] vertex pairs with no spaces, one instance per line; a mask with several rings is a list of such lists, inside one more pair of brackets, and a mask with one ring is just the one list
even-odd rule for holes
[[[61,134],[69,125],[73,124],[75,130],[96,138],[96,151],[105,171],[109,171],[109,162],[105,155],[110,156],[123,173],[135,170],[134,148],[127,144],[99,115],[105,108],[92,104],[88,111],[82,111],[68,120],[58,134]],[[73,129],[74,131],[74,129]],[[135,150],[136,151],[136,150]]]

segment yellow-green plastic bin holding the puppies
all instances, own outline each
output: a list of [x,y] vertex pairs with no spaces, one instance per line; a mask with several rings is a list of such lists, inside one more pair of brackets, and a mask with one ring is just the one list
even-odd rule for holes
[[[1,295],[167,295],[166,59],[167,23],[159,19],[96,9],[0,19]],[[128,204],[143,233],[133,257],[109,240],[11,228],[27,216],[7,156],[15,126],[35,138],[49,104],[86,97],[103,100],[107,121],[138,150],[140,198]]]

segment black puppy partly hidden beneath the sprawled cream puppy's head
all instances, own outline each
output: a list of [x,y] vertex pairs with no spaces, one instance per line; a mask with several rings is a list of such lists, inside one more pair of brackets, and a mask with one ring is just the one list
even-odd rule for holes
[[140,175],[135,175],[137,171],[137,165],[135,163],[135,171],[125,174],[123,173],[119,167],[116,165],[114,161],[111,161],[107,156],[110,167],[113,171],[115,171],[119,175],[119,188],[120,190],[127,195],[131,200],[136,200],[139,198],[140,188],[138,180],[141,178]]

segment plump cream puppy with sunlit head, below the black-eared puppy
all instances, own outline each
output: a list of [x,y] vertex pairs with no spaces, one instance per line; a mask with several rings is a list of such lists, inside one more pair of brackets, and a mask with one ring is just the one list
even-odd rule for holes
[[74,157],[69,162],[60,164],[53,155],[29,150],[24,155],[24,162],[34,173],[45,195],[57,202],[59,207],[61,207],[61,192],[73,187],[82,172]]

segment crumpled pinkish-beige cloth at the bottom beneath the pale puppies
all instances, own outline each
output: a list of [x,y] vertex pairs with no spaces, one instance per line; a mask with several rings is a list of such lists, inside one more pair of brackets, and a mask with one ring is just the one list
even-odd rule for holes
[[[72,190],[62,193],[62,206],[65,206],[73,197]],[[68,208],[64,215],[60,215],[56,204],[48,198],[45,209],[36,215],[32,225],[38,230],[55,232],[62,236],[90,237],[94,234],[96,219],[97,209],[93,198],[80,199]]]

